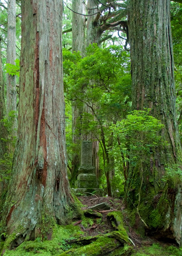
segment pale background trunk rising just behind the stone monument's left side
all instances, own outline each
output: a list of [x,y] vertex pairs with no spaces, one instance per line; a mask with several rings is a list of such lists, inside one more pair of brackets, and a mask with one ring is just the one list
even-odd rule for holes
[[[77,13],[86,13],[85,1],[73,0],[72,2],[73,17],[72,17],[72,52],[80,52],[81,56],[85,56],[85,16]],[[80,144],[81,138],[76,134],[76,127],[79,125],[79,116],[83,112],[81,107],[78,107],[75,101],[72,101],[72,141],[75,144]],[[78,167],[80,165],[80,156],[78,152],[73,155],[71,170],[70,186],[75,186],[76,177],[78,175]]]

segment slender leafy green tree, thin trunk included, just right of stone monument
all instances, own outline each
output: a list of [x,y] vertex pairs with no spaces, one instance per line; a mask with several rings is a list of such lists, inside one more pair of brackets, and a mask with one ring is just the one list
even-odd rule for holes
[[70,70],[69,75],[65,76],[66,97],[78,106],[85,104],[91,111],[83,112],[78,117],[76,135],[79,137],[82,133],[85,139],[95,137],[100,141],[110,195],[112,163],[108,151],[112,147],[113,133],[105,126],[125,116],[130,106],[131,80],[127,59],[129,56],[121,47],[100,49],[92,44],[87,48],[85,58],[71,65],[70,60],[65,60],[63,64],[65,72],[67,67]]

